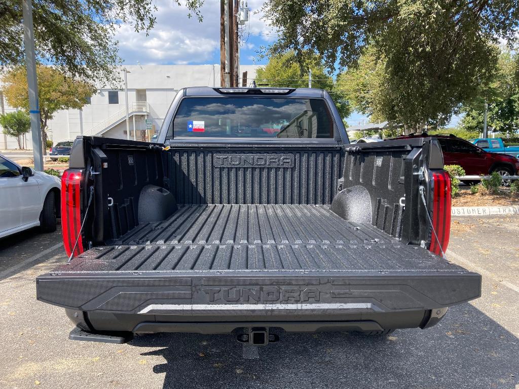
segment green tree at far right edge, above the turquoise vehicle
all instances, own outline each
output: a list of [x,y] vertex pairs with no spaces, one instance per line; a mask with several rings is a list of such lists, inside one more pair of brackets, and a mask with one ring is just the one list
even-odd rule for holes
[[516,132],[519,125],[519,86],[516,77],[518,58],[517,55],[514,58],[508,50],[501,52],[490,84],[463,106],[465,116],[460,122],[461,129],[477,134],[483,131],[486,102],[489,131],[507,134]]

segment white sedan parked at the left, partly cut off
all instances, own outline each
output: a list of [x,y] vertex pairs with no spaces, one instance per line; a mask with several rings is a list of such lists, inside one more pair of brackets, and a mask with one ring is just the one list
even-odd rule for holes
[[0,238],[39,226],[56,231],[60,179],[20,166],[0,155]]

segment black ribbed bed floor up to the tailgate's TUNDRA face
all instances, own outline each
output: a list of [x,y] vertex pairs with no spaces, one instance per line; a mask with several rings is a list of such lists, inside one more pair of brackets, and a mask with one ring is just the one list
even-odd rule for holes
[[326,206],[263,204],[182,206],[71,265],[70,271],[459,269]]

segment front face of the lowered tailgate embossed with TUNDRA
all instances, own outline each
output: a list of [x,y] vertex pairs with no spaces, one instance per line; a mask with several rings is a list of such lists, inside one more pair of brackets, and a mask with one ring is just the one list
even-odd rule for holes
[[480,297],[481,276],[461,270],[56,272],[37,277],[36,294],[90,313],[311,321],[450,307]]

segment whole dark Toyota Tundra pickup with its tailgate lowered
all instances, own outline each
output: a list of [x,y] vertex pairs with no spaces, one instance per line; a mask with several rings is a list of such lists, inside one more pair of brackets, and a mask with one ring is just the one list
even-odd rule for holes
[[387,334],[481,293],[443,255],[438,141],[350,145],[323,90],[182,89],[156,143],[76,138],[61,196],[71,260],[37,298],[65,308],[71,339]]

